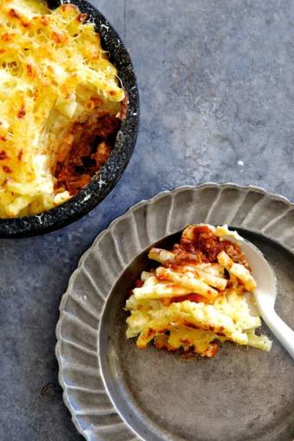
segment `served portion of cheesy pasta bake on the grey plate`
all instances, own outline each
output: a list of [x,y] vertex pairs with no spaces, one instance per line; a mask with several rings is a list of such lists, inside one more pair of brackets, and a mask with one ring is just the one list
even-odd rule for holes
[[[143,271],[126,301],[127,338],[145,348],[212,357],[220,342],[232,341],[269,351],[271,341],[257,335],[260,317],[248,300],[256,287],[251,268],[227,226],[190,225],[172,250],[152,248],[160,263]],[[251,299],[252,300],[252,299]]]

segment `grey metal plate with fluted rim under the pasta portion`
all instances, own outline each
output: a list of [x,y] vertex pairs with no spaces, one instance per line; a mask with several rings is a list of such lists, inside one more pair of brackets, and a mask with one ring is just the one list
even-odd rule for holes
[[269,353],[225,343],[213,359],[140,351],[125,340],[122,307],[146,250],[198,222],[228,223],[262,250],[278,279],[276,310],[294,328],[294,205],[286,198],[208,183],[139,202],[97,237],[60,304],[59,381],[86,439],[293,440],[294,362],[265,326]]

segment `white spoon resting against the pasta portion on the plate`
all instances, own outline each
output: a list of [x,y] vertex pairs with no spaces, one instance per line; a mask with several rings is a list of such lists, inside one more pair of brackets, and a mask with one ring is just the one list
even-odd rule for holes
[[274,310],[277,296],[277,280],[274,270],[262,252],[251,242],[244,240],[238,241],[238,244],[245,253],[256,280],[257,288],[253,295],[259,314],[271,332],[294,358],[294,331],[283,322]]

